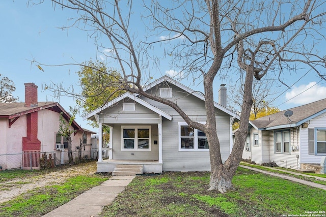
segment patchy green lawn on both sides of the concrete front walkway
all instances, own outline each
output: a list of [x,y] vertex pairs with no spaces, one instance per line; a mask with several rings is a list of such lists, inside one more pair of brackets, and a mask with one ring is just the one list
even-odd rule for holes
[[[94,163],[95,164],[95,163]],[[51,171],[51,170],[49,170]],[[2,171],[0,180],[49,171]],[[5,172],[5,173],[3,173]],[[166,172],[137,176],[101,216],[282,216],[323,211],[326,191],[238,168],[235,191],[207,191],[208,172]],[[108,176],[76,175],[65,183],[38,188],[0,204],[0,216],[42,216],[99,185]]]

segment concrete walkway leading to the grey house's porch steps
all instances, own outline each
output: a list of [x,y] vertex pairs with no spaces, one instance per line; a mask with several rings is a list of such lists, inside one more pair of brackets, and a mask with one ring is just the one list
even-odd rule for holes
[[43,215],[46,217],[99,216],[103,206],[110,204],[135,176],[113,176],[101,185],[79,195],[73,200]]

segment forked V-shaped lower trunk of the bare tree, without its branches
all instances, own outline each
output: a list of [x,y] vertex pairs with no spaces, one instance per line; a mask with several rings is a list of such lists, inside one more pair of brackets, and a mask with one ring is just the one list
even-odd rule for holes
[[[215,112],[214,107],[207,109],[207,131],[206,136],[209,144],[209,157],[211,165],[211,175],[209,181],[209,191],[217,190],[221,193],[226,193],[229,190],[234,190],[232,185],[232,178],[242,159],[242,151],[244,143],[248,135],[249,117],[252,107],[252,83],[253,83],[253,67],[248,67],[246,71],[246,80],[244,82],[244,95],[240,116],[240,126],[235,133],[235,142],[229,158],[222,163],[222,156],[220,151],[220,141],[216,133]],[[207,83],[206,83],[207,87]],[[206,91],[210,91],[206,88]],[[206,92],[207,95],[207,92]],[[207,99],[207,98],[206,98]]]

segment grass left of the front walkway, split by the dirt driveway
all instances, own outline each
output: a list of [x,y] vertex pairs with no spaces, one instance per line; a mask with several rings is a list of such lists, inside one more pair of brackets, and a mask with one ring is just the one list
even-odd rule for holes
[[[22,184],[28,177],[33,180],[33,178],[39,177],[42,174],[60,170],[64,171],[65,168],[76,167],[81,167],[85,171],[85,174],[76,173],[76,175],[68,178],[64,183],[56,184],[55,180],[53,180],[54,184],[52,183],[43,188],[33,189],[13,200],[1,203],[0,216],[42,216],[108,179],[107,175],[94,174],[94,171],[96,171],[95,161],[49,170],[1,171],[0,180],[2,182],[13,181],[14,178],[21,179],[18,182],[15,180],[11,186],[14,187],[15,184]],[[89,171],[93,171],[93,173],[89,173]],[[19,185],[17,187],[19,188]],[[6,189],[3,188],[2,190],[5,191]]]

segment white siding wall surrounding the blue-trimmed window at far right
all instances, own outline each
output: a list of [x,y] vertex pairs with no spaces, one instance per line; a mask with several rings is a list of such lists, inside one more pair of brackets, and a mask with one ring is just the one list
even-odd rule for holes
[[301,163],[320,164],[322,156],[315,156],[308,152],[308,129],[326,128],[326,114],[323,113],[310,120],[308,128],[302,128],[300,132],[300,161]]

